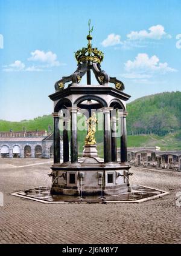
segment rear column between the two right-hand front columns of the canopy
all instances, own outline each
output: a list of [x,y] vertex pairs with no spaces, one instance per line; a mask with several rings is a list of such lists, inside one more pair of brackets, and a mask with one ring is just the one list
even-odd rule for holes
[[116,140],[116,116],[112,116],[111,118],[111,152],[112,152],[112,162],[117,161],[117,140]]

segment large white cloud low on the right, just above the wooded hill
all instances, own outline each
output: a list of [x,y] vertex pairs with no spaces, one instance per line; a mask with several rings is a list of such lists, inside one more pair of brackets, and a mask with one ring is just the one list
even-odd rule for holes
[[129,73],[167,73],[177,71],[169,67],[167,62],[161,63],[156,55],[149,58],[147,53],[139,53],[133,61],[129,60],[124,65],[125,70]]

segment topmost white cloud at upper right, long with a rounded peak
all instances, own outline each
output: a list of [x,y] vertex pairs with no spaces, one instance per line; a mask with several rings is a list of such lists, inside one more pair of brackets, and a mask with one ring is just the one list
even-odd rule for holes
[[162,25],[154,25],[147,30],[132,31],[127,35],[130,40],[143,40],[143,39],[154,39],[160,40],[162,38],[171,38],[171,35],[165,32],[165,28]]

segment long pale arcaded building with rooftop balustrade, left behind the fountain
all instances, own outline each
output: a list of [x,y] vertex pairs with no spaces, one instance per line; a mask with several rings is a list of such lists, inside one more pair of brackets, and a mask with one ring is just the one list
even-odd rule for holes
[[[53,134],[43,131],[0,132],[0,157],[9,158],[52,158]],[[62,138],[60,157],[62,158]]]

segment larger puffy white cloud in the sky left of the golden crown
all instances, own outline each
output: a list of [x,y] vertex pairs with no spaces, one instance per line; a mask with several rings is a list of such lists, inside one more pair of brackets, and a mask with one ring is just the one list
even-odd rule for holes
[[57,61],[57,55],[56,53],[49,52],[43,52],[41,50],[35,50],[34,52],[31,52],[31,57],[28,58],[28,61],[39,61],[46,63],[47,66],[60,66],[60,62]]

